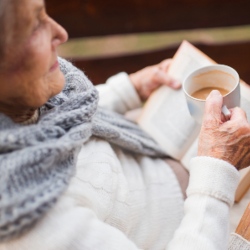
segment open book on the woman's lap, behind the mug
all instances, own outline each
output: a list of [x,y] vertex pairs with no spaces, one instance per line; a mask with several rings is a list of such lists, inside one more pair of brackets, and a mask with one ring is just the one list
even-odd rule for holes
[[[181,82],[194,70],[216,62],[187,41],[183,41],[173,57],[169,74]],[[241,107],[250,118],[250,86],[241,81]],[[147,100],[137,120],[166,153],[189,170],[190,159],[197,154],[200,125],[190,116],[185,95],[180,90],[162,86]],[[241,171],[235,201],[250,187],[250,168]]]

